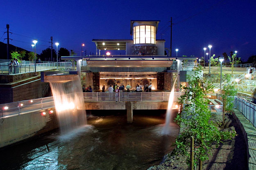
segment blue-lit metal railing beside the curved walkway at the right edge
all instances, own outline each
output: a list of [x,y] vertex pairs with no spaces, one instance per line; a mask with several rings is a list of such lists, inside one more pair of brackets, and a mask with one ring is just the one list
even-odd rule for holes
[[234,108],[238,109],[256,127],[256,104],[248,102],[243,97],[235,97]]

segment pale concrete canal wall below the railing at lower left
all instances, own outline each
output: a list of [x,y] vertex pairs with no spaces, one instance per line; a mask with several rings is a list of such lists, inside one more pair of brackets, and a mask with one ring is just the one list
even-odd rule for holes
[[[42,111],[46,116],[42,116]],[[58,128],[56,113],[42,110],[0,119],[0,148]]]

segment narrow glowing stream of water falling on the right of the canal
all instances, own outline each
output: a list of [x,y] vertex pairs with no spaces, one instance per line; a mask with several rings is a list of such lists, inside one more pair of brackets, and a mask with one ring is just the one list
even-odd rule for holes
[[172,104],[173,104],[173,100],[174,100],[175,82],[177,81],[178,76],[176,77],[176,79],[173,82],[172,91],[171,91],[170,96],[169,96],[168,107],[167,107],[166,117],[165,117],[165,125],[163,127],[162,132],[161,132],[162,135],[170,134],[171,129],[172,129],[172,128],[170,128],[170,123],[173,123],[173,120],[174,120],[174,115],[172,114]]

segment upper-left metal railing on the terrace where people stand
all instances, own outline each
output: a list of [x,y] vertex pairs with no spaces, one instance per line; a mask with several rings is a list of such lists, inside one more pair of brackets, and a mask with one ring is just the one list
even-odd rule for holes
[[[57,68],[66,68],[66,65],[70,66],[71,62],[49,62],[49,63],[37,63],[36,71],[45,71]],[[6,74],[18,74],[18,73],[30,73],[35,71],[35,64],[22,64],[22,65],[7,65],[5,69],[0,72]]]

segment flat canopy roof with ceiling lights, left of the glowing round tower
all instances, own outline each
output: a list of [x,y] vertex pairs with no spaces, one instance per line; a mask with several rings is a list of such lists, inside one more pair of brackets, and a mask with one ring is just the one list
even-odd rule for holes
[[95,42],[99,50],[126,50],[126,42],[132,42],[132,40],[93,39],[92,42]]

